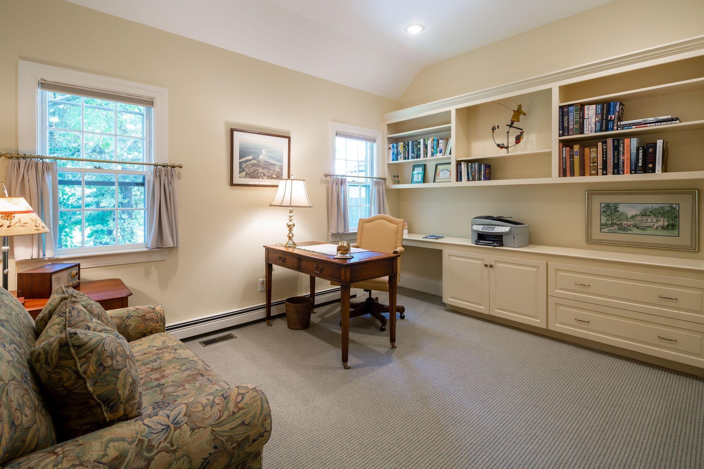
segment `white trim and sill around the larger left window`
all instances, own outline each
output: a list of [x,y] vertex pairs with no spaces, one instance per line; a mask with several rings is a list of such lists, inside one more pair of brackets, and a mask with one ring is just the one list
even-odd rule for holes
[[[104,77],[93,73],[79,72],[68,68],[59,68],[42,63],[18,60],[18,153],[39,154],[42,130],[42,100],[39,81],[72,84],[86,88],[99,89],[118,94],[130,94],[151,99],[154,103],[152,113],[153,126],[153,162],[168,161],[168,91],[159,86],[150,86],[126,80]],[[149,197],[149,194],[145,194]],[[134,262],[164,260],[168,249],[125,249],[106,250],[103,252],[83,252],[73,255],[57,255],[51,258],[26,259],[18,261],[23,269],[32,268],[32,264],[42,265],[56,259],[80,259],[84,268]]]

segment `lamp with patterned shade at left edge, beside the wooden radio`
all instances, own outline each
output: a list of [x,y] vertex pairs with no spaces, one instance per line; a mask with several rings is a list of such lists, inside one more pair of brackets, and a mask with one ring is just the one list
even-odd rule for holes
[[[3,189],[5,185],[3,184]],[[49,233],[44,221],[34,213],[34,209],[24,197],[0,197],[0,236],[2,236],[2,288],[8,288],[8,256],[10,239],[8,236],[23,236]]]

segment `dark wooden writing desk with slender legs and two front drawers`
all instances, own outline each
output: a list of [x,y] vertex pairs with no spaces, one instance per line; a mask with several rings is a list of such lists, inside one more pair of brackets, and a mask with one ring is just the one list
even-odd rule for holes
[[[306,247],[326,244],[320,241],[298,243]],[[346,370],[350,331],[350,285],[356,282],[389,276],[389,340],[396,348],[396,278],[398,254],[385,252],[357,252],[352,259],[334,259],[332,256],[301,249],[287,249],[277,245],[264,246],[266,271],[266,323],[271,326],[271,272],[273,266],[282,266],[310,275],[310,297],[315,304],[315,277],[340,284],[340,311],[342,322],[342,366]]]

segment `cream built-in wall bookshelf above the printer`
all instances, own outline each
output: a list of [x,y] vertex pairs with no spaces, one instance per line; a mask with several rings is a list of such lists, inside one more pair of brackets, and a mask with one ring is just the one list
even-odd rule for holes
[[[647,56],[645,54],[644,56]],[[496,86],[464,96],[448,98],[447,105],[434,102],[382,116],[387,143],[441,136],[452,140],[451,155],[386,163],[387,188],[454,188],[528,184],[624,184],[643,181],[696,180],[704,177],[704,49],[683,54],[659,55],[648,60],[614,58],[625,65],[585,68],[584,75],[555,72],[555,80],[543,77]],[[622,60],[622,62],[619,62]],[[595,71],[596,70],[596,71]],[[587,72],[589,74],[587,75]],[[560,136],[558,114],[563,106],[623,103],[622,120],[641,120],[672,115],[679,122],[656,127],[602,131]],[[524,129],[521,143],[506,150],[491,139],[505,143],[510,109],[522,104],[527,115],[517,122]],[[510,131],[510,140],[518,132]],[[560,146],[595,146],[607,139],[639,138],[644,142],[667,140],[668,172],[560,177]],[[513,143],[513,142],[512,142]],[[385,150],[385,149],[384,149]],[[490,181],[457,181],[458,164],[491,165]],[[410,184],[413,165],[426,165],[425,183]],[[450,163],[452,181],[433,183],[435,165]],[[393,184],[398,175],[401,184]]]

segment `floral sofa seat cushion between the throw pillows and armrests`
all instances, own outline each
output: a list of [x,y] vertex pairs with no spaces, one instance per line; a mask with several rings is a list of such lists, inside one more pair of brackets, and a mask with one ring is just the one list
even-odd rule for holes
[[142,375],[144,415],[230,387],[183,342],[158,333],[130,342]]

